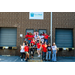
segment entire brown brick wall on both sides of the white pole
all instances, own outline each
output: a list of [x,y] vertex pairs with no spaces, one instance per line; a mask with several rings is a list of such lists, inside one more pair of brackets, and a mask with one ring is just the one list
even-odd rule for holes
[[[74,12],[53,12],[53,42],[55,42],[56,28],[73,28],[75,32]],[[0,27],[17,28],[17,50],[0,50],[0,55],[20,55],[19,45],[22,43],[20,34],[25,36],[26,29],[47,29],[50,34],[50,12],[44,12],[44,20],[29,20],[29,12],[0,12]],[[73,33],[74,34],[74,33]],[[75,48],[75,34],[73,35]],[[24,38],[24,37],[23,37]],[[58,52],[59,56],[75,56],[75,50],[71,52]]]

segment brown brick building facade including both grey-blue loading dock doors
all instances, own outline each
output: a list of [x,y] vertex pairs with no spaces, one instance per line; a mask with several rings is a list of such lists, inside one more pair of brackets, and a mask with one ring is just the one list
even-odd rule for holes
[[[27,31],[44,31],[49,35],[50,16],[51,12],[44,12],[43,20],[35,20],[29,19],[29,12],[0,12],[0,55],[20,55],[19,46]],[[57,56],[75,56],[75,12],[53,12],[52,17],[52,41],[58,47]]]

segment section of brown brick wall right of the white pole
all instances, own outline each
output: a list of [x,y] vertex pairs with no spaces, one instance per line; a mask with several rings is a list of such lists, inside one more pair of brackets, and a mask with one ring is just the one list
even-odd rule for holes
[[[53,12],[53,42],[55,42],[55,29],[73,29],[73,42],[75,48],[75,12]],[[74,51],[61,51],[58,56],[75,56]]]

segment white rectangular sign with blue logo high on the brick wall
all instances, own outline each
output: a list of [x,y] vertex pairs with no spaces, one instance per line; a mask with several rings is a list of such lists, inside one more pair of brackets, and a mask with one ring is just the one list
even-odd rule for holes
[[29,19],[44,19],[44,12],[29,12]]

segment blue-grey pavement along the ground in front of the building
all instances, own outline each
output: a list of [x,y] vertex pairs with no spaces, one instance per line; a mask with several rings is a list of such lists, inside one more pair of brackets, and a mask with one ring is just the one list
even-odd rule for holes
[[[20,56],[0,55],[0,62],[26,62],[26,61],[21,61]],[[34,57],[34,59],[30,59],[28,60],[28,62],[52,62],[52,61],[42,61],[41,58]],[[56,62],[75,62],[75,57],[57,57]]]

